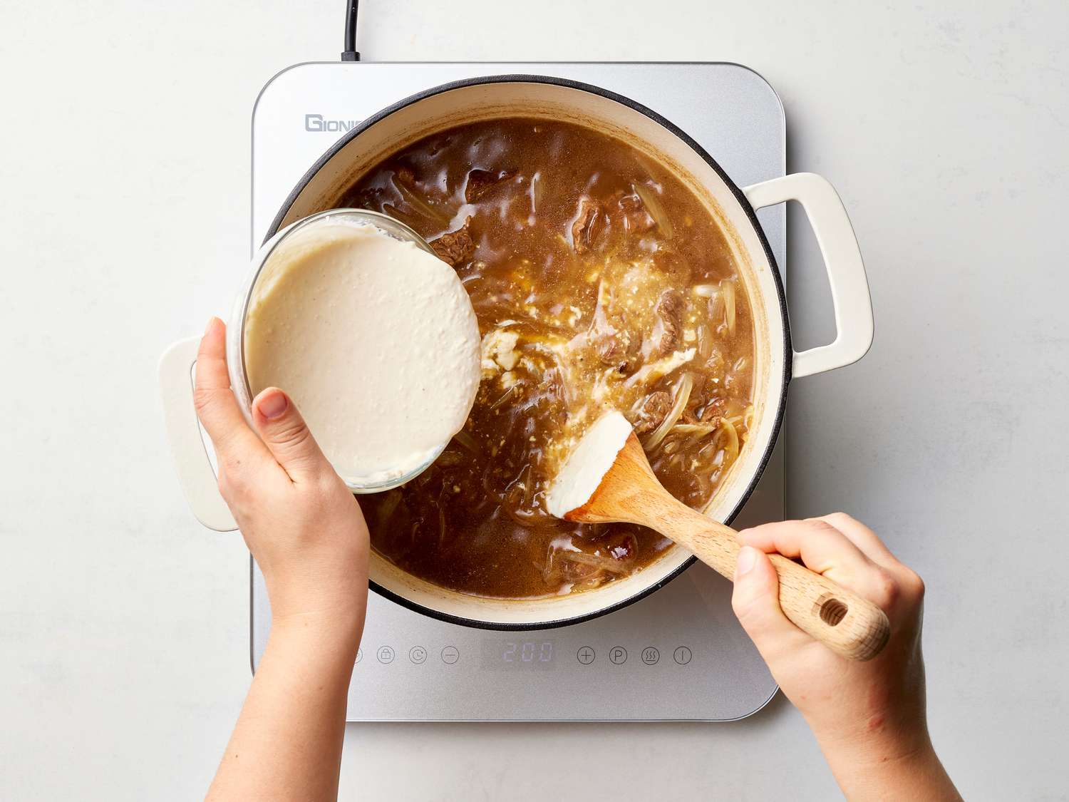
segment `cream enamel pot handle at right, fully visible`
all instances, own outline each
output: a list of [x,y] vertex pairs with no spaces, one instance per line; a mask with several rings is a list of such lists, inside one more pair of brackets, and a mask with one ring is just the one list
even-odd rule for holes
[[857,237],[835,187],[815,173],[796,172],[742,191],[755,211],[789,200],[801,203],[824,257],[835,308],[835,340],[795,351],[792,375],[823,373],[861,359],[872,345],[872,299]]

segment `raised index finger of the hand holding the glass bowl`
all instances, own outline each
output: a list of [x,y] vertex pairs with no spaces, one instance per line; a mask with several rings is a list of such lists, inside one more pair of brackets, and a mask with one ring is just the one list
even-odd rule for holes
[[220,463],[236,464],[250,454],[265,454],[263,444],[249,429],[230,389],[227,372],[227,327],[218,318],[208,321],[197,352],[193,402]]

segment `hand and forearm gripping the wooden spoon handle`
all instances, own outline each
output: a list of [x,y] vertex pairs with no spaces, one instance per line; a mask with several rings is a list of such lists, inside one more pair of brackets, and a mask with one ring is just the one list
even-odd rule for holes
[[[848,798],[958,799],[928,736],[920,577],[841,512],[765,524],[740,533],[740,540],[732,607]],[[883,651],[864,663],[846,660],[791,623],[765,556],[773,552],[801,558],[881,607],[890,622]],[[925,782],[907,792],[910,777]]]

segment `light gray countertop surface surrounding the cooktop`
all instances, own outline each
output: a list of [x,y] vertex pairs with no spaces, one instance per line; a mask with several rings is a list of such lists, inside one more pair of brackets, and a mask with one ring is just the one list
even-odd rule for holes
[[[1069,6],[362,5],[369,60],[731,60],[778,90],[789,168],[838,187],[877,315],[863,363],[792,389],[790,512],[847,509],[928,581],[931,726],[966,798],[1066,799]],[[185,508],[155,363],[247,258],[258,90],[334,57],[341,17],[0,5],[4,800],[189,799],[215,769],[249,681],[247,556]],[[792,233],[814,344],[826,290]],[[368,799],[836,793],[781,699],[715,726],[351,725],[342,773]]]

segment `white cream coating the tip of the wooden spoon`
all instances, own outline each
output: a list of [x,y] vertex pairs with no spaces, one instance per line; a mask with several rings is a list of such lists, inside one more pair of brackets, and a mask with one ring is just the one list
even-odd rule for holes
[[587,429],[549,485],[549,514],[563,518],[590,500],[631,431],[631,423],[618,412],[603,415]]

